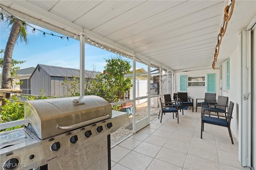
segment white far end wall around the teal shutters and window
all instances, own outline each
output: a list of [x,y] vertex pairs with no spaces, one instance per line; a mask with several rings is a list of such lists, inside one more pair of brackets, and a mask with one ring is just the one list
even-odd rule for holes
[[[220,70],[219,69],[204,69],[204,70],[185,71],[185,72],[175,73],[176,74],[176,80],[175,80],[176,92],[180,91],[180,75],[187,75],[187,78],[188,76],[205,76],[207,79],[207,74],[209,73],[215,73],[215,90],[216,90],[216,99],[217,99],[218,95],[220,95]],[[188,92],[188,96],[191,96],[191,98],[194,99],[194,107],[196,107],[196,99],[204,99],[204,93],[207,92],[207,89],[206,89],[206,86],[205,87],[188,87],[188,84],[187,84],[187,92]]]

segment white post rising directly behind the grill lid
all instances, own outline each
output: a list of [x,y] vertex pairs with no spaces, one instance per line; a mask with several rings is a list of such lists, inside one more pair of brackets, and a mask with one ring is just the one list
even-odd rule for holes
[[84,36],[80,35],[80,96],[84,96]]

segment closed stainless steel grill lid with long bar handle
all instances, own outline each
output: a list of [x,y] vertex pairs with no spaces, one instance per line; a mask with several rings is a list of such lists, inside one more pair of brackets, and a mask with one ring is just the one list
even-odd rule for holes
[[25,101],[25,126],[36,135],[49,138],[69,130],[112,117],[112,106],[105,99],[88,95]]

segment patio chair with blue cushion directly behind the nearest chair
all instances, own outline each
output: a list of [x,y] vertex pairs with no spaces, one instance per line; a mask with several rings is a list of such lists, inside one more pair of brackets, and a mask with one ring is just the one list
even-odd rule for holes
[[219,115],[219,113],[225,113],[225,115],[226,115],[227,107],[228,107],[228,97],[218,96],[217,103],[214,105],[203,106],[203,103],[202,103],[201,111],[202,111],[202,113],[205,113],[207,111],[209,114],[210,114],[210,112],[215,112],[215,113],[217,113],[217,115]]

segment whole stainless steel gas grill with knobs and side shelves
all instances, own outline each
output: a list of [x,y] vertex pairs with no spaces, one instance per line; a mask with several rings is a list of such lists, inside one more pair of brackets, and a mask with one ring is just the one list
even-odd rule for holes
[[26,101],[24,109],[25,127],[0,134],[4,170],[110,169],[110,133],[129,121],[97,96]]

